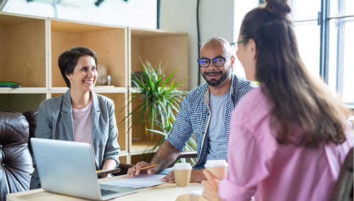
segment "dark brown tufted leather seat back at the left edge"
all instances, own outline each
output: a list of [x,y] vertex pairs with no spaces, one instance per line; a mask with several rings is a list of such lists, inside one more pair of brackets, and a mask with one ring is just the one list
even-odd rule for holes
[[33,171],[28,148],[30,124],[19,112],[0,110],[1,201],[8,193],[29,190],[29,174]]

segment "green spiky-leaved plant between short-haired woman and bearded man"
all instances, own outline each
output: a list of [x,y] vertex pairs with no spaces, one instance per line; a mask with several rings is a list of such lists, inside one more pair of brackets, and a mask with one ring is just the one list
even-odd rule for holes
[[[167,137],[168,132],[172,129],[172,125],[176,120],[176,115],[179,108],[179,103],[186,95],[185,91],[177,90],[187,78],[175,83],[172,76],[177,72],[177,68],[170,75],[165,76],[164,69],[161,67],[160,62],[157,67],[153,67],[148,60],[144,63],[142,60],[142,72],[132,73],[131,82],[132,88],[135,92],[129,102],[135,104],[134,109],[128,114],[132,118],[134,124],[138,124],[140,131],[144,130],[149,134],[151,139],[154,135],[162,135],[158,141],[150,142],[149,146],[144,153],[146,157],[151,157],[153,150],[159,147],[164,139]],[[129,129],[132,128],[129,126]],[[194,139],[188,141],[185,151],[196,150],[197,145]],[[194,163],[194,161],[192,161]]]

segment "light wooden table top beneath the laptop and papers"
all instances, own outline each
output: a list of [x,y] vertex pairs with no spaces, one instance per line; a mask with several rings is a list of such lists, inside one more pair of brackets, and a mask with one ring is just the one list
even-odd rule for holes
[[[99,179],[107,182],[126,178],[126,175]],[[121,196],[111,201],[204,201],[200,196],[190,196],[190,191],[203,189],[200,183],[191,183],[189,187],[176,187],[176,184],[164,183],[158,186],[142,188],[139,192]],[[6,201],[86,201],[85,199],[51,193],[43,189],[35,189],[19,193],[7,194]]]

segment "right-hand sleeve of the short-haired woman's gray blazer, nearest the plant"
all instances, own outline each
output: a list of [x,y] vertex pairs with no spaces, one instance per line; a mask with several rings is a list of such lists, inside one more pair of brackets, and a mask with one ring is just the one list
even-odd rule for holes
[[108,139],[104,150],[103,161],[106,161],[107,159],[114,159],[117,162],[116,167],[118,167],[120,146],[117,141],[118,128],[116,123],[115,106],[113,102],[111,102],[108,115],[109,115]]

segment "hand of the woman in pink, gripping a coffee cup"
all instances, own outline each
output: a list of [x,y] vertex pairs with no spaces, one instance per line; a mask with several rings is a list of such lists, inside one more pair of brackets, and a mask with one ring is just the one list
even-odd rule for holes
[[222,201],[219,197],[219,183],[220,180],[216,179],[208,170],[203,171],[207,180],[202,181],[204,184],[203,197],[208,201]]

